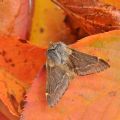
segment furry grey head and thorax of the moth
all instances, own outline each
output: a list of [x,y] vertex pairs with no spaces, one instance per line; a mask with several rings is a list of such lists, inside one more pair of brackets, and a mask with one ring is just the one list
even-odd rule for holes
[[62,42],[50,44],[47,59],[51,64],[64,64],[71,54],[71,50]]

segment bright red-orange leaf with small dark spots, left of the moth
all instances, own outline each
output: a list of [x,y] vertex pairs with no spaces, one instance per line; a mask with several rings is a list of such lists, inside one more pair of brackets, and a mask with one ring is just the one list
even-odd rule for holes
[[45,63],[45,50],[10,36],[0,36],[0,66],[18,79],[31,82]]

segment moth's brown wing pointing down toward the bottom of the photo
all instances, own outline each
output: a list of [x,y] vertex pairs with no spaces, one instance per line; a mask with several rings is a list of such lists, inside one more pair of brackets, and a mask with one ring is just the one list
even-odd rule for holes
[[60,66],[47,66],[46,98],[49,106],[57,104],[69,85],[70,77]]

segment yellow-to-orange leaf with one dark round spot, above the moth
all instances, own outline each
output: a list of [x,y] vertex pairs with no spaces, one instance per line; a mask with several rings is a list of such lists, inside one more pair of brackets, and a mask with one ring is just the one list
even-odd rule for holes
[[30,41],[40,47],[48,47],[50,42],[73,43],[75,36],[64,23],[63,11],[50,0],[35,0]]

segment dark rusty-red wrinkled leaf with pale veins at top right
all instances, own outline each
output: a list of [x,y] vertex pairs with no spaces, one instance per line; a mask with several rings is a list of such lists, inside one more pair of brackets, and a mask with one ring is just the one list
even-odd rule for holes
[[120,9],[98,0],[52,0],[68,15],[78,38],[120,29]]

